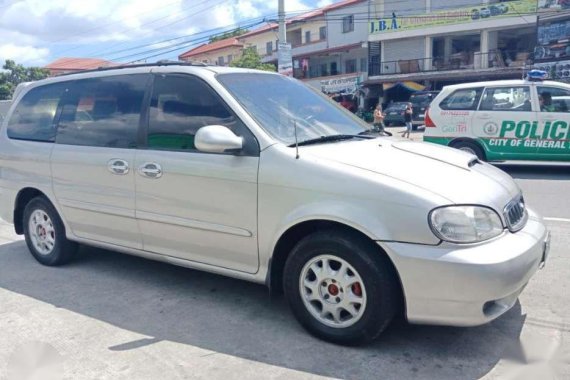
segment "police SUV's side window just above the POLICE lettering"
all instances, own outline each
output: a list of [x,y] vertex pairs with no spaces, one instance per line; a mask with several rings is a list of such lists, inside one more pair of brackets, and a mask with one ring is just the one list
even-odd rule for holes
[[530,89],[526,86],[487,88],[479,110],[530,112]]

